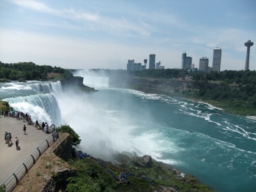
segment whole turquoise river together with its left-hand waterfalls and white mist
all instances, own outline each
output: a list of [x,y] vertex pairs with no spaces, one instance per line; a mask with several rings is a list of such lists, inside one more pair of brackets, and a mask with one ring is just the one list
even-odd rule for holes
[[70,125],[81,150],[151,155],[216,191],[256,191],[256,120],[202,102],[108,87],[84,76],[90,94],[62,93],[60,82],[1,83],[0,98],[39,122]]

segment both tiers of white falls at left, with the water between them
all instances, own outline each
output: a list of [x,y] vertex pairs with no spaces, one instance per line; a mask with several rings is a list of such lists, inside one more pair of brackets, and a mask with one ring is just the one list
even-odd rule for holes
[[[5,92],[3,101],[8,101],[16,111],[29,113],[33,122],[62,124],[61,110],[55,94],[62,93],[61,82],[30,81],[29,83],[9,83],[2,86]],[[32,89],[32,90],[31,90]],[[34,92],[33,92],[34,90]],[[26,94],[29,93],[29,94]]]

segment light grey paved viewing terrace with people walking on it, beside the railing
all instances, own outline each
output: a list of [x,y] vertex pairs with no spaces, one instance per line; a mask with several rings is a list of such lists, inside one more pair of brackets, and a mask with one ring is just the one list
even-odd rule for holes
[[[23,131],[23,125],[26,125],[26,135]],[[8,131],[12,134],[12,143],[10,147],[5,144],[3,134]],[[41,130],[35,129],[32,125],[27,125],[22,120],[8,118],[0,115],[0,184],[7,179],[35,148],[38,147],[51,134],[45,134]],[[16,150],[15,137],[19,138],[20,150]]]

